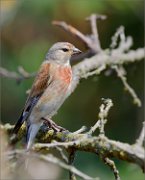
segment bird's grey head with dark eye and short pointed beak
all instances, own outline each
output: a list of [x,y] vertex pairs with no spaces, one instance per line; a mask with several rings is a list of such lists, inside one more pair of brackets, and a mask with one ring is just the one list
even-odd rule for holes
[[74,45],[68,42],[55,43],[48,51],[45,60],[58,64],[67,64],[72,55],[81,53]]

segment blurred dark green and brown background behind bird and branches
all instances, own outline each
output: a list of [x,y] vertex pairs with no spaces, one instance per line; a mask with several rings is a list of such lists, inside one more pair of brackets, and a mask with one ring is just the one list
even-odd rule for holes
[[[107,15],[98,23],[102,47],[108,48],[111,36],[123,25],[127,35],[133,37],[133,48],[143,47],[143,1],[141,0],[1,0],[1,66],[17,71],[23,66],[28,72],[37,71],[49,47],[57,41],[68,41],[85,51],[84,44],[51,24],[63,20],[85,34],[90,33],[85,18],[91,13]],[[143,62],[125,66],[128,82],[143,103]],[[114,140],[134,143],[143,121],[143,106],[138,108],[114,72],[82,80],[74,93],[65,101],[53,118],[70,131],[82,125],[92,126],[97,120],[101,98],[111,98],[111,109],[105,126],[106,135]],[[26,100],[26,90],[33,79],[17,84],[14,80],[1,80],[1,119],[3,123],[15,123]],[[139,167],[123,161],[115,161],[123,180],[142,180]],[[112,172],[97,156],[78,152],[76,167],[91,176],[103,180],[114,179]],[[62,178],[68,176],[62,173]]]

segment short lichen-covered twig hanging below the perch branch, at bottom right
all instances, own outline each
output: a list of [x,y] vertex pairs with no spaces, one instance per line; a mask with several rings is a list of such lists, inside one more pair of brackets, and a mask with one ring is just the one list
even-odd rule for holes
[[111,168],[111,170],[114,173],[115,179],[120,180],[119,171],[117,170],[114,161],[112,161],[108,157],[103,158],[103,161],[105,162],[106,165],[108,165]]

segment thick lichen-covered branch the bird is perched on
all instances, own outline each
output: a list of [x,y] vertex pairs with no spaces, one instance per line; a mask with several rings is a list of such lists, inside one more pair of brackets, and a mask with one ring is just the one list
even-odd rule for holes
[[[6,131],[11,134],[13,126],[10,124],[1,125],[1,130]],[[24,136],[25,128],[24,126],[20,129],[18,140]],[[59,141],[57,143],[48,144],[51,140]],[[129,145],[127,143],[122,143],[119,141],[110,140],[107,137],[94,137],[86,134],[73,134],[71,132],[54,132],[53,130],[40,131],[37,135],[37,141],[41,143],[36,143],[33,148],[38,151],[41,148],[54,148],[54,147],[64,147],[64,148],[74,148],[79,151],[93,152],[97,154],[103,154],[107,157],[115,157],[123,161],[132,162],[139,165],[144,169],[144,148]],[[47,142],[47,143],[46,143]],[[44,143],[44,144],[43,144]]]

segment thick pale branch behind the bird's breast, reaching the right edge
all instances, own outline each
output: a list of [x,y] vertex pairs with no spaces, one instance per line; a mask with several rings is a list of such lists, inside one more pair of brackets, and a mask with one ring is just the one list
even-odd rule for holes
[[80,79],[84,78],[85,74],[97,70],[98,68],[105,66],[111,67],[112,65],[122,65],[133,62],[141,61],[145,58],[144,48],[137,50],[130,50],[128,53],[116,53],[116,50],[112,50],[112,53],[102,52],[91,58],[86,58],[82,62],[73,66],[73,82],[72,91],[77,87]]

